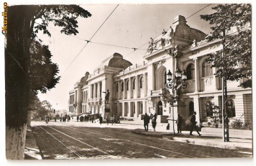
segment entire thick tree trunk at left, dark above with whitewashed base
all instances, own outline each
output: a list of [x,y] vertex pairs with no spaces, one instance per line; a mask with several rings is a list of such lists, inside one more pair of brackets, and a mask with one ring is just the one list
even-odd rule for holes
[[33,10],[8,6],[8,33],[5,48],[6,158],[23,159],[29,96],[29,43]]

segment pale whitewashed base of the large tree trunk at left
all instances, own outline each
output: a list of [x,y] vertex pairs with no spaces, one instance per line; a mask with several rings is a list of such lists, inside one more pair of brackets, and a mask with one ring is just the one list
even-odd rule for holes
[[6,159],[24,159],[27,125],[20,128],[6,127]]

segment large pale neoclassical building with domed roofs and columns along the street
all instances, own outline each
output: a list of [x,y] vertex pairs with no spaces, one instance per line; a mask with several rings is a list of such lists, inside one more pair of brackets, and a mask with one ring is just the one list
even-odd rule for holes
[[[232,32],[231,32],[232,33]],[[209,122],[213,116],[212,105],[221,111],[221,79],[214,77],[216,68],[207,63],[207,54],[222,49],[220,40],[207,41],[207,34],[189,27],[183,16],[173,20],[172,27],[148,42],[144,61],[132,64],[115,53],[102,61],[93,73],[86,72],[69,92],[68,110],[72,116],[82,113],[125,117],[140,120],[145,113],[156,113],[159,123],[177,118],[179,113],[189,119]],[[166,72],[179,68],[187,73],[187,87],[175,108],[161,97],[166,88]],[[228,111],[230,119],[241,119],[252,125],[252,89],[239,87],[228,81]],[[109,90],[109,103],[105,93]],[[198,120],[199,119],[199,120]]]

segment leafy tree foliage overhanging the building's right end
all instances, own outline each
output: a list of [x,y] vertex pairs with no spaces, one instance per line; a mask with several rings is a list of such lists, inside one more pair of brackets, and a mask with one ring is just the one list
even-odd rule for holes
[[208,40],[221,39],[223,45],[222,50],[209,54],[208,61],[218,69],[216,77],[246,78],[241,86],[252,87],[251,4],[219,4],[212,9],[214,13],[200,17],[213,25]]

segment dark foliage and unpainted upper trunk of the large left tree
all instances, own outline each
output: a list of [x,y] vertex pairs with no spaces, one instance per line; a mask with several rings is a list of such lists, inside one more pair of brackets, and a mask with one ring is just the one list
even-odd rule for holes
[[7,126],[19,128],[25,124],[29,103],[36,92],[45,93],[60,79],[58,65],[51,62],[49,47],[40,43],[38,32],[51,36],[48,26],[53,22],[62,28],[61,33],[76,35],[77,18],[90,16],[90,12],[77,5],[8,6],[5,48]]

